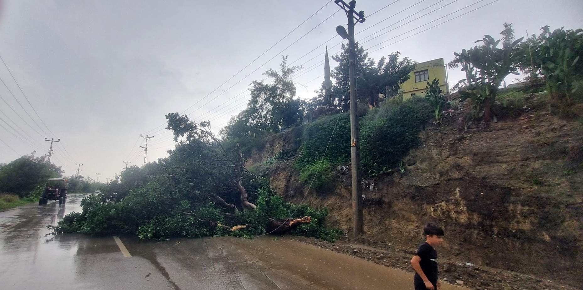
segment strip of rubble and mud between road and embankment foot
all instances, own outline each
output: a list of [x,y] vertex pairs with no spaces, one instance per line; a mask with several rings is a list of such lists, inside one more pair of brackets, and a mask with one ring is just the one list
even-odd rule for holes
[[[399,268],[409,271],[413,275],[410,259],[415,254],[413,250],[406,251],[395,249],[391,243],[379,245],[367,245],[367,241],[351,241],[345,239],[335,243],[326,242],[304,236],[293,236],[291,239],[332,250],[334,252],[359,257],[386,267]],[[570,285],[561,284],[560,281],[551,281],[544,278],[525,275],[495,268],[476,266],[463,261],[440,258],[440,279],[442,281],[469,287],[476,290],[510,290],[510,289],[537,289],[537,290],[576,290]],[[412,277],[413,278],[413,277]]]

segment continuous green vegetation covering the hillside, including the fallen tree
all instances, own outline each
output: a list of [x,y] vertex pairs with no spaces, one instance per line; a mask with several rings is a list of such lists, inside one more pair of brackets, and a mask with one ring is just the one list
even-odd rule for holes
[[[479,45],[456,52],[449,67],[460,68],[465,79],[448,92],[439,87],[445,80],[427,82],[425,96],[410,100],[403,100],[399,86],[416,62],[399,52],[374,61],[358,47],[363,174],[374,178],[406,172],[403,158],[420,143],[419,132],[426,126],[484,129],[490,122],[528,112],[527,104],[548,105],[561,116],[581,118],[576,105],[581,104],[583,79],[581,30],[550,32],[543,27],[540,36],[524,41],[513,34],[511,24],[505,24],[500,39],[486,35],[476,41]],[[66,215],[55,231],[142,239],[271,233],[338,238],[342,232],[325,227],[326,208],[286,203],[258,167],[288,162],[315,194],[333,189],[334,168],[347,167],[350,161],[347,49],[332,56],[339,62],[332,71],[335,84],[322,87],[311,100],[296,95],[292,77],[301,68],[287,66],[283,57],[280,70],[264,73],[272,82],[252,82],[247,108],[217,136],[209,122],[168,114],[167,129],[178,142],[168,157],[121,172],[103,193],[86,197],[82,213]],[[504,77],[519,72],[528,85],[500,89]],[[531,94],[536,101],[526,100]],[[245,167],[252,152],[263,149],[266,137],[285,130],[293,135],[294,148],[253,169]]]

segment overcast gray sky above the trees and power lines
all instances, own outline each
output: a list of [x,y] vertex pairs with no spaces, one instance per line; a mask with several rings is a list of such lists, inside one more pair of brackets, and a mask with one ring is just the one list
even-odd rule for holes
[[[356,33],[362,31],[356,40],[375,60],[401,51],[419,62],[448,62],[454,51],[473,47],[484,34],[499,38],[504,22],[514,23],[517,38],[526,30],[538,34],[545,25],[583,27],[581,0],[492,1],[400,0],[384,8],[394,0],[359,0],[357,10],[371,16],[356,25]],[[196,103],[185,113],[192,112],[196,121],[210,119],[213,128],[224,126],[244,108],[248,84],[263,79],[266,69],[278,69],[282,54],[289,55],[293,65],[303,65],[294,80],[298,96],[310,98],[324,69],[319,55],[324,46],[318,45],[332,38],[326,43],[329,54],[338,52],[342,39],[335,37],[335,27],[346,23],[338,6],[326,2],[3,1],[0,55],[40,118],[0,63],[0,77],[14,95],[0,83],[0,97],[14,109],[0,100],[0,118],[14,130],[2,121],[0,125],[16,135],[0,127],[0,163],[33,150],[46,154],[48,137],[61,139],[52,161],[65,175],[75,174],[75,164],[80,163],[83,175],[96,178],[100,173],[101,181],[113,178],[125,166],[122,161],[143,164],[140,134],[154,135],[149,161],[173,148],[170,133],[161,126],[168,112],[182,112]],[[448,73],[449,82],[463,77],[457,70]]]

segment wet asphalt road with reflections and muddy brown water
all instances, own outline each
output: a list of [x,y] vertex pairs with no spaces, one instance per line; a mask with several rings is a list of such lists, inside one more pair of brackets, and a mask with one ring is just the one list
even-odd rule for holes
[[0,213],[0,289],[412,289],[410,273],[286,238],[47,235],[83,196]]

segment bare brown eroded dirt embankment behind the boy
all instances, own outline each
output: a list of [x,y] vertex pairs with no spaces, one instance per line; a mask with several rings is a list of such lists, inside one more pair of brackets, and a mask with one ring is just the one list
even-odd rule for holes
[[[293,135],[272,136],[251,162],[297,146]],[[411,254],[422,242],[423,224],[436,221],[447,235],[440,259],[535,275],[531,285],[543,287],[538,289],[553,289],[540,284],[546,280],[583,283],[581,122],[529,112],[484,130],[438,126],[420,137],[422,145],[403,160],[404,174],[395,168],[394,174],[363,181],[366,234],[358,242],[381,248],[391,243],[391,249]],[[329,224],[348,231],[350,168],[336,171],[335,190],[306,194],[292,162],[269,165],[276,191],[294,202],[305,194],[304,203],[328,207]],[[462,278],[477,289],[506,289]],[[508,289],[522,289],[514,285]]]

